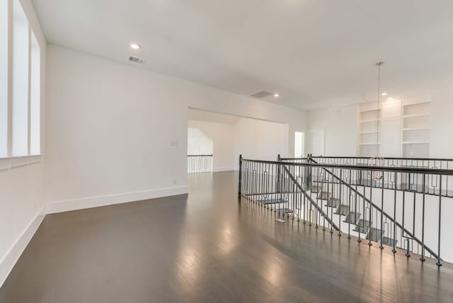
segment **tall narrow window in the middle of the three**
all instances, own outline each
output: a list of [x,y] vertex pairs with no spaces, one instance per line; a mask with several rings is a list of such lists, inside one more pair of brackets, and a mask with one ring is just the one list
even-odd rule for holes
[[28,154],[28,21],[18,0],[13,5],[13,155]]

